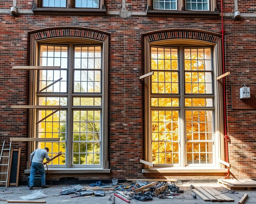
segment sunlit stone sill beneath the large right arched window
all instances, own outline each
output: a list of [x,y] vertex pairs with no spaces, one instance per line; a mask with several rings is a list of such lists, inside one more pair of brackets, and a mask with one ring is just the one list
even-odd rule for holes
[[150,168],[142,169],[142,173],[226,173],[227,169],[220,168],[195,168],[195,167],[165,167],[165,168]]

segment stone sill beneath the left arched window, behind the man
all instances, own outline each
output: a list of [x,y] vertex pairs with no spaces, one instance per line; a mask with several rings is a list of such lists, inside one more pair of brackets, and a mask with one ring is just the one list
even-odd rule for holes
[[[47,170],[45,168],[45,170]],[[110,169],[102,169],[102,168],[82,168],[82,167],[48,167],[49,173],[110,173]],[[30,174],[30,169],[24,170],[25,174]]]

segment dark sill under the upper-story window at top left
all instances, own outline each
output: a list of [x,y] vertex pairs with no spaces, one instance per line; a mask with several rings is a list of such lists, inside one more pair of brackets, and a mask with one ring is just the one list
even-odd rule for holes
[[32,8],[35,14],[83,14],[105,15],[106,9],[102,8]]

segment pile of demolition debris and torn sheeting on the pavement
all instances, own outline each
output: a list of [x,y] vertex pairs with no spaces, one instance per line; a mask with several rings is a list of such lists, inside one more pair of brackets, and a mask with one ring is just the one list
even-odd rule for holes
[[[114,196],[126,201],[135,199],[139,201],[150,201],[154,197],[173,198],[183,193],[178,186],[170,181],[133,181],[130,183],[118,183],[118,179],[113,179],[111,184],[104,184],[101,181],[83,187],[81,185],[73,185],[64,188],[61,195],[71,195],[71,198],[79,196],[105,196],[113,194]],[[109,200],[114,202],[114,196],[110,195]]]

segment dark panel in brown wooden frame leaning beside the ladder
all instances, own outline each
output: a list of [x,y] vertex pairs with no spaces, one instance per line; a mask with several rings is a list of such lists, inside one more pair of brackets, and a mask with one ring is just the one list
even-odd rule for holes
[[20,159],[21,159],[21,147],[11,148],[7,187],[18,186]]

